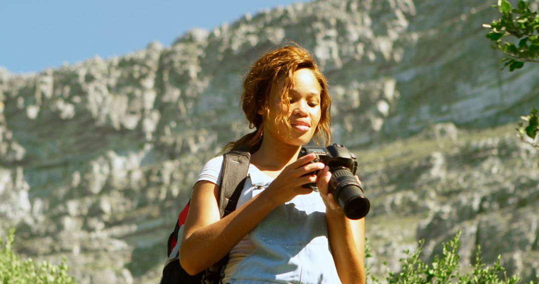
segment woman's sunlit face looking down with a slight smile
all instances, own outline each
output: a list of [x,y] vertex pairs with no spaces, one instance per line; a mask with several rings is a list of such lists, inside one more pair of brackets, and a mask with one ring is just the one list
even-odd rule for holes
[[[281,93],[285,80],[274,83],[269,95],[269,116],[264,124],[264,134],[271,135],[289,145],[302,146],[313,137],[316,126],[320,122],[320,93],[322,88],[310,69],[296,70],[294,88],[289,89],[288,98],[290,107],[281,104]],[[259,110],[264,116],[264,109]],[[285,113],[286,123],[278,119]]]

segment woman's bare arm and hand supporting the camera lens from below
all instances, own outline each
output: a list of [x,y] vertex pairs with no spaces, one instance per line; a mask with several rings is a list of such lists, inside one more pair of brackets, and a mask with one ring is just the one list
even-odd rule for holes
[[317,186],[326,204],[329,245],[337,274],[342,283],[365,283],[365,218],[351,220],[344,215],[328,193],[330,178],[329,168],[325,167],[319,174]]

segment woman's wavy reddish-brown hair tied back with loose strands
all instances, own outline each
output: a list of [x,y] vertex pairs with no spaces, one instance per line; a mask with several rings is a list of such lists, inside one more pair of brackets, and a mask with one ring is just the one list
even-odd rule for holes
[[[288,81],[285,80],[285,85],[281,93],[281,104],[287,110],[290,107],[288,90],[294,87],[293,74],[296,70],[302,68],[311,70],[321,87],[321,116],[320,122],[316,125],[314,140],[316,144],[320,144],[320,140],[323,140],[326,145],[330,143],[331,101],[327,89],[326,77],[322,75],[322,72],[320,72],[309,52],[301,46],[294,44],[265,53],[253,64],[251,70],[245,75],[241,105],[249,121],[249,128],[254,128],[255,130],[227,144],[223,148],[224,152],[243,150],[254,153],[260,148],[262,135],[264,134],[264,119],[269,114],[269,94],[272,85],[275,83],[274,86],[279,86],[278,82],[281,79],[288,79]],[[259,109],[264,110],[266,115],[260,115],[257,112]],[[280,113],[277,119],[284,122],[284,125],[288,125],[287,113]]]

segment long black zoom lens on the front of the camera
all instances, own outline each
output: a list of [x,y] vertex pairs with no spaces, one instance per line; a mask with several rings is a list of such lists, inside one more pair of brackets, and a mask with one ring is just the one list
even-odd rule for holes
[[330,171],[329,190],[337,204],[343,209],[344,215],[353,220],[367,216],[370,202],[363,195],[363,190],[354,174],[345,167],[337,167]]

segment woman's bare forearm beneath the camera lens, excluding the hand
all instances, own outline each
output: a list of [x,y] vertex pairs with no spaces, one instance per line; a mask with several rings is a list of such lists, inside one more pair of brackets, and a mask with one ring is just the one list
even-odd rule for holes
[[342,283],[365,283],[363,263],[364,221],[350,221],[327,210],[329,245]]

